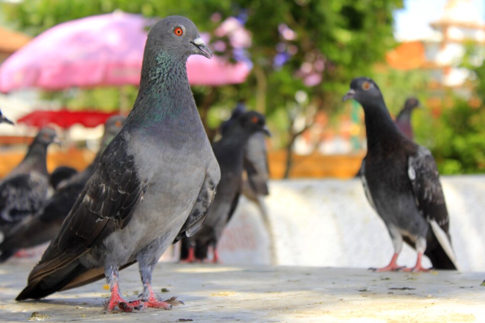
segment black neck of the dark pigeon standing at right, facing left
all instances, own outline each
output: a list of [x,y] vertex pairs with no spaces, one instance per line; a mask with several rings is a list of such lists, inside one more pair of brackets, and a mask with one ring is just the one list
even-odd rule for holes
[[394,146],[402,137],[389,111],[382,102],[364,107],[368,151],[379,151]]

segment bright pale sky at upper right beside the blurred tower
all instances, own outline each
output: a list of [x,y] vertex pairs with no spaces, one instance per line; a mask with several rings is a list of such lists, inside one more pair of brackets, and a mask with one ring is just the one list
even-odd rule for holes
[[[485,23],[485,0],[470,0],[474,13]],[[404,9],[395,12],[395,37],[402,40],[429,38],[430,22],[439,20],[447,0],[405,0]]]

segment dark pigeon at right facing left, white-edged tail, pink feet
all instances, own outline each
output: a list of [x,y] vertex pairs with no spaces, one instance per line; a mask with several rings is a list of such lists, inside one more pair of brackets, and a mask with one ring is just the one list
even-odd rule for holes
[[[398,130],[374,81],[365,77],[352,80],[344,100],[350,98],[364,109],[364,191],[384,221],[395,250],[389,265],[376,271],[427,271],[421,265],[423,254],[436,269],[457,269],[445,196],[433,156]],[[417,251],[412,268],[397,265],[403,240]]]

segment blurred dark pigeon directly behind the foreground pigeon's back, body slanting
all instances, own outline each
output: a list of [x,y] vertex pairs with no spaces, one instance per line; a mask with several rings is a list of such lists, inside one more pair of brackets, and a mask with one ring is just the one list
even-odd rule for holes
[[25,219],[10,231],[0,244],[0,263],[9,259],[19,249],[35,247],[52,240],[58,234],[64,219],[86,185],[104,149],[118,134],[124,120],[125,118],[122,116],[109,118],[105,123],[100,150],[93,162],[81,173],[65,180],[54,195],[45,201],[42,210],[35,216]]

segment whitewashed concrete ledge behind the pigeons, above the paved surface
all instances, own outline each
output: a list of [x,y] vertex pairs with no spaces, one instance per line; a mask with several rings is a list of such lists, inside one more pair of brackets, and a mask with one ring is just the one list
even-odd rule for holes
[[[462,271],[485,271],[485,176],[443,177],[453,246]],[[365,199],[360,179],[271,181],[264,199],[271,234],[258,208],[241,199],[220,242],[226,264],[271,263],[368,268],[393,254],[384,223]],[[414,265],[404,246],[399,263]],[[425,259],[425,265],[430,263]],[[485,278],[485,277],[484,277]]]

